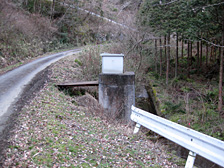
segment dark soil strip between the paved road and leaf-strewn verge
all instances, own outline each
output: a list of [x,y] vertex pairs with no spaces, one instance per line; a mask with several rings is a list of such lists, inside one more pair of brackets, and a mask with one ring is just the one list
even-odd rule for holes
[[26,85],[18,101],[9,109],[11,116],[6,123],[7,126],[5,127],[2,135],[0,135],[0,167],[2,167],[5,159],[4,150],[10,146],[8,139],[13,134],[13,128],[16,127],[18,115],[22,108],[26,104],[29,104],[29,102],[35,97],[36,93],[38,93],[40,89],[43,88],[44,84],[49,81],[48,75],[51,73],[49,69],[50,68],[48,67],[45,70],[39,72],[33,78],[33,80],[28,85]]

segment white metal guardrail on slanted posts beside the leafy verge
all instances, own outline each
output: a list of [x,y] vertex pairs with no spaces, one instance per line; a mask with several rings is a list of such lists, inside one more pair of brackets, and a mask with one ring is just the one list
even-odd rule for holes
[[144,126],[190,150],[185,168],[192,168],[196,154],[224,166],[224,142],[132,106],[134,134]]

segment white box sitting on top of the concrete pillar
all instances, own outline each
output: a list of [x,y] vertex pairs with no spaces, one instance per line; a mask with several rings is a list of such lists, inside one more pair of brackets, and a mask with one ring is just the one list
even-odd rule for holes
[[124,72],[124,54],[102,53],[102,73],[119,74]]

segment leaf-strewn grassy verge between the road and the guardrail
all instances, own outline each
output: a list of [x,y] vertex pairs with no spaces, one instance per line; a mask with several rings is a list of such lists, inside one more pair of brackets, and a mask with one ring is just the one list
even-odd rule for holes
[[133,135],[133,128],[103,120],[100,111],[80,106],[77,96],[55,87],[82,74],[76,58],[68,56],[53,64],[40,75],[42,88],[25,96],[25,106],[18,108],[4,142],[8,147],[1,150],[0,166],[182,167],[145,134]]

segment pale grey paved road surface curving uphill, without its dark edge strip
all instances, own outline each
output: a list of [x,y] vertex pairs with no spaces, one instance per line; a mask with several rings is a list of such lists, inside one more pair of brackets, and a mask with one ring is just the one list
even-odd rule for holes
[[0,137],[3,130],[10,124],[8,121],[10,115],[16,111],[12,106],[19,103],[21,95],[24,94],[26,86],[32,79],[51,63],[79,51],[80,49],[69,50],[39,58],[0,76]]

